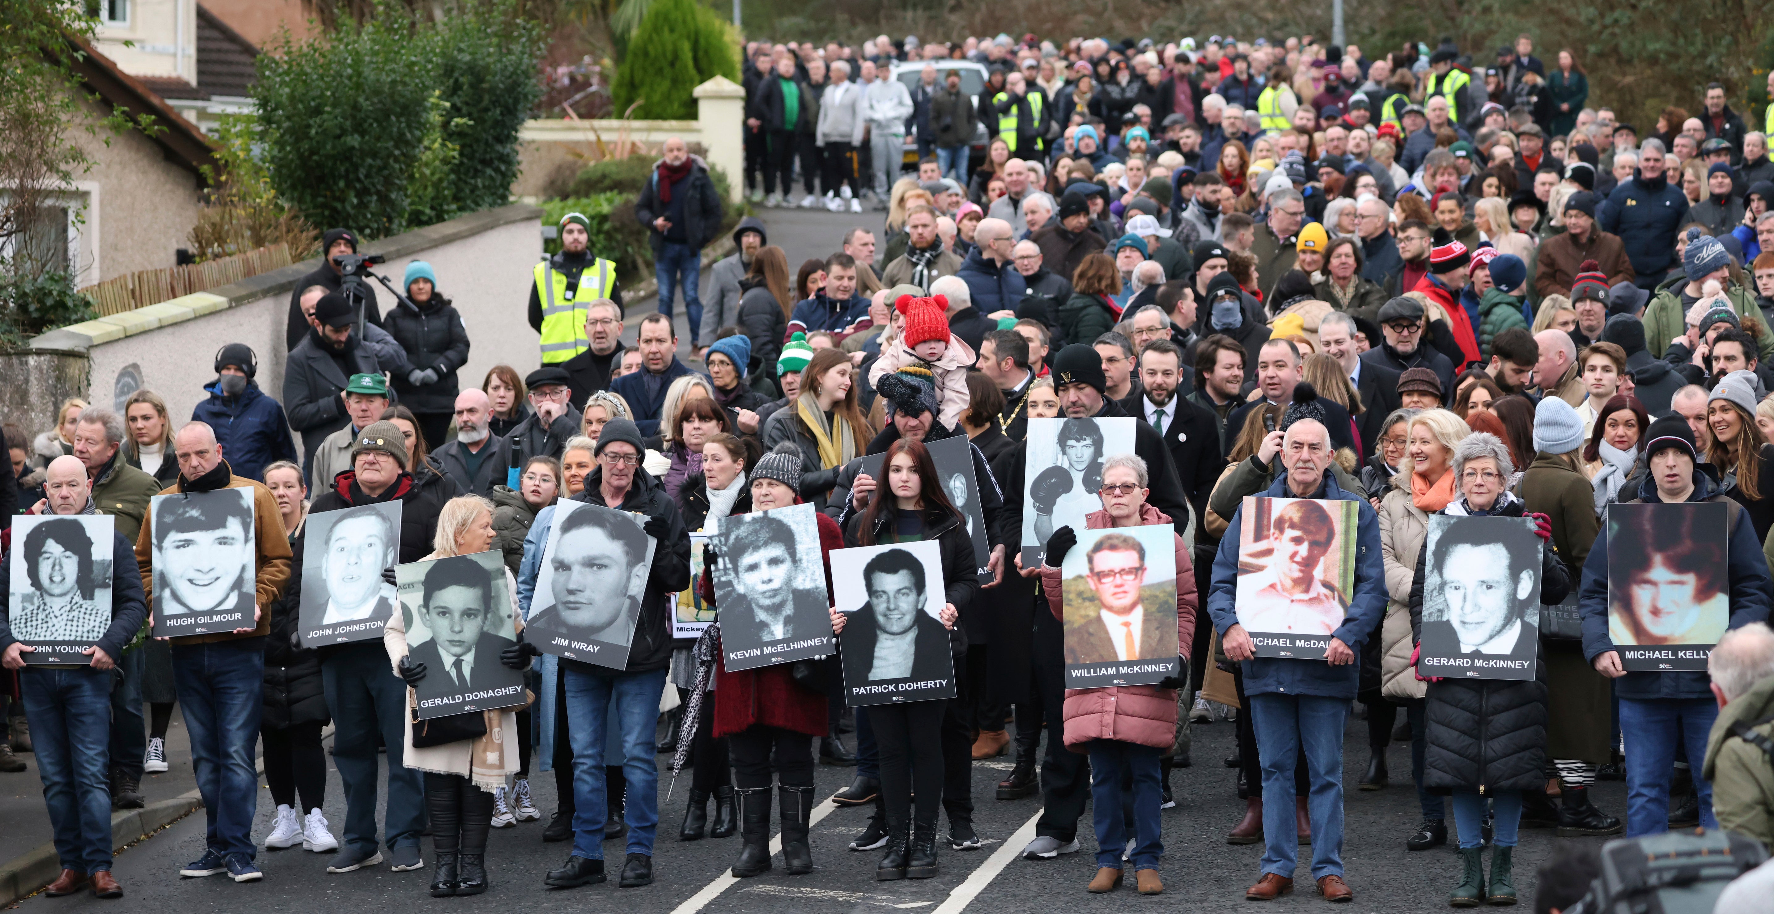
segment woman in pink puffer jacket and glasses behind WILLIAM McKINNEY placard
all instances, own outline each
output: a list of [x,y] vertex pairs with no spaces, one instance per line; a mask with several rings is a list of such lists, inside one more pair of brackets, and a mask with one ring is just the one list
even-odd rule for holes
[[[1116,454],[1103,461],[1103,509],[1086,516],[1087,529],[1142,527],[1171,524],[1157,508],[1146,504],[1146,461],[1135,454]],[[1196,634],[1196,575],[1183,538],[1176,540],[1176,644],[1187,650]],[[1064,552],[1077,545],[1071,527],[1054,531],[1047,545],[1048,561],[1064,561]],[[1041,591],[1054,618],[1064,621],[1061,593],[1064,589],[1059,568],[1041,564]],[[1178,667],[1178,678],[1187,680],[1187,669]],[[1171,680],[1166,680],[1169,685]],[[1164,891],[1158,879],[1160,809],[1164,808],[1164,781],[1158,758],[1169,751],[1176,735],[1176,690],[1158,685],[1130,685],[1114,689],[1066,689],[1064,705],[1066,747],[1091,756],[1091,800],[1096,825],[1096,877],[1089,891],[1105,893],[1121,886],[1121,852],[1128,831],[1135,838],[1134,871],[1141,894]],[[1134,822],[1123,809],[1123,776],[1132,770]]]

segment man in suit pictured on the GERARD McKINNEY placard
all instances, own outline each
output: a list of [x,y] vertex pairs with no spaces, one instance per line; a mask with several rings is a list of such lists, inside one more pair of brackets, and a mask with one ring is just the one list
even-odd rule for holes
[[1425,658],[1485,655],[1533,662],[1540,646],[1533,600],[1536,545],[1526,532],[1495,540],[1483,524],[1453,524],[1435,540],[1428,566],[1440,575],[1448,618],[1423,623]]

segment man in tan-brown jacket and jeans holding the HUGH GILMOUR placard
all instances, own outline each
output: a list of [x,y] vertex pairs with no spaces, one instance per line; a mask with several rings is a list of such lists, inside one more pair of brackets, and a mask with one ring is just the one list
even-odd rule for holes
[[[172,674],[190,729],[197,790],[209,820],[204,855],[192,861],[181,877],[227,873],[234,882],[263,879],[252,864],[252,818],[259,800],[259,776],[254,770],[254,744],[259,740],[259,712],[264,703],[264,639],[271,634],[270,607],[289,580],[289,534],[277,499],[263,483],[234,476],[215,429],[190,422],[174,438],[179,477],[161,495],[252,490],[254,552],[254,625],[227,634],[186,635],[172,642]],[[232,524],[229,525],[229,529]],[[245,531],[234,531],[234,536]],[[165,540],[165,538],[161,538]],[[220,545],[220,538],[218,538]],[[135,563],[142,571],[142,589],[154,607],[154,554],[165,543],[154,538],[154,511],[142,522],[135,541]],[[149,628],[154,634],[153,628]]]

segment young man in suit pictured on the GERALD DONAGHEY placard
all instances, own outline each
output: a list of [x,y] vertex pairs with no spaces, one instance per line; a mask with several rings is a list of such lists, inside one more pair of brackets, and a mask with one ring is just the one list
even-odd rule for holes
[[[454,694],[502,689],[513,678],[498,655],[514,641],[486,630],[493,618],[493,579],[475,561],[440,561],[426,570],[419,616],[431,641],[415,646],[410,666],[438,671],[429,680]],[[495,623],[497,625],[497,623]],[[433,685],[433,689],[436,687]]]

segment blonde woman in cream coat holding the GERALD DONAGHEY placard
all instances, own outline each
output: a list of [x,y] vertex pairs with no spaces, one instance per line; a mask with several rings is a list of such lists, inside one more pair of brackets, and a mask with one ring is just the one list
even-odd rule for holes
[[[479,495],[458,495],[438,511],[436,536],[433,550],[420,561],[444,559],[451,555],[472,555],[488,552],[493,547],[493,502]],[[527,669],[530,657],[539,651],[523,642],[523,619],[518,614],[518,582],[511,571],[506,575],[504,600],[491,603],[488,625],[504,628],[498,616],[509,616],[516,626],[518,641],[498,655],[497,662],[509,669]],[[493,593],[488,598],[498,595]],[[381,642],[389,651],[394,674],[417,685],[429,674],[445,671],[426,669],[408,657],[406,614],[389,616]],[[493,658],[479,658],[488,662]],[[516,706],[488,712],[468,712],[483,717],[479,737],[470,737],[442,745],[415,747],[413,721],[406,719],[406,745],[403,763],[408,768],[424,772],[426,813],[431,825],[431,848],[436,854],[436,870],[431,877],[431,896],[481,894],[488,889],[486,880],[486,834],[493,823],[493,799],[504,793],[506,779],[520,770],[514,745],[506,735],[518,733],[518,710],[529,705],[529,692]]]

